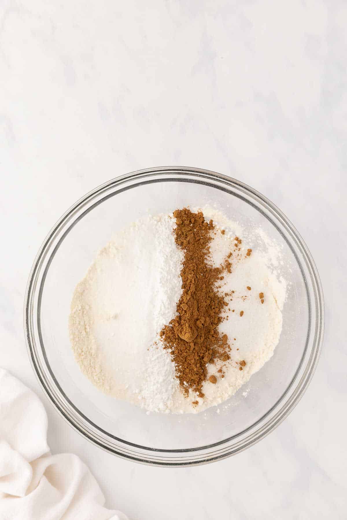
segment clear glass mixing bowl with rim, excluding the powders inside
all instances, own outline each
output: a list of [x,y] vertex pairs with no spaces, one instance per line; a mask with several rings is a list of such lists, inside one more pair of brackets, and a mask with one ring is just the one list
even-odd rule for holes
[[[97,251],[119,228],[177,207],[217,205],[231,220],[261,226],[281,244],[290,282],[273,357],[226,411],[151,413],[102,394],[80,372],[69,342],[71,296]],[[31,270],[24,328],[33,369],[48,399],[76,431],[125,459],[162,466],[203,464],[242,451],[297,404],[317,365],[324,301],[299,233],[274,204],[238,180],[198,168],[150,168],[110,180],[76,202],[50,231]],[[245,395],[247,397],[245,397]],[[222,407],[221,407],[222,408]]]

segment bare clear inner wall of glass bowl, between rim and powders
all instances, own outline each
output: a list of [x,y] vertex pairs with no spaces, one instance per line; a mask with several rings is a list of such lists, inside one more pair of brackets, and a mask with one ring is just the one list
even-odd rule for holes
[[[216,206],[245,228],[261,226],[268,237],[281,244],[283,264],[280,269],[289,284],[280,341],[274,356],[252,376],[246,388],[240,388],[224,405],[200,414],[147,415],[145,410],[102,394],[80,372],[68,335],[72,293],[97,251],[118,229],[148,213],[168,213],[177,207],[205,204]],[[147,180],[105,192],[94,205],[80,212],[78,219],[66,225],[55,244],[38,298],[37,320],[44,362],[70,406],[109,437],[166,451],[221,443],[264,418],[290,387],[300,367],[310,330],[307,294],[297,255],[259,205],[243,198],[240,192],[202,180]]]

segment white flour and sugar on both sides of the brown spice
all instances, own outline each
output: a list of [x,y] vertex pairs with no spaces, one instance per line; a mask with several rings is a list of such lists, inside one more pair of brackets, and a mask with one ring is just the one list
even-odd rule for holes
[[[245,235],[220,213],[203,212],[226,230],[225,235],[217,232],[211,245],[213,260],[219,265],[235,234]],[[282,328],[286,284],[267,266],[278,262],[274,244],[268,248],[271,258],[257,251],[245,258],[248,244],[243,238],[242,259],[224,279],[223,290],[235,291],[229,319],[220,324],[232,345],[231,359],[223,363],[228,365],[225,377],[216,384],[205,382],[203,399],[191,392],[185,398],[171,355],[159,339],[164,324],[175,316],[181,296],[183,253],[175,244],[174,227],[175,219],[169,215],[148,216],[120,232],[98,253],[73,294],[70,339],[82,372],[101,391],[148,411],[197,413],[232,396],[272,356]],[[260,292],[264,292],[263,305]],[[237,365],[240,360],[246,361],[242,371]],[[210,365],[208,375],[218,369]],[[196,407],[191,404],[194,400],[199,401]]]

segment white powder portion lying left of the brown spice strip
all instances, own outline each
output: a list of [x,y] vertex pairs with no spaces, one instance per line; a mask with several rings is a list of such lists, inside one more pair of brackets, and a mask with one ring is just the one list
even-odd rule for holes
[[102,392],[147,410],[173,406],[169,352],[155,345],[176,313],[183,253],[174,219],[148,216],[118,232],[75,288],[69,318],[72,350]]

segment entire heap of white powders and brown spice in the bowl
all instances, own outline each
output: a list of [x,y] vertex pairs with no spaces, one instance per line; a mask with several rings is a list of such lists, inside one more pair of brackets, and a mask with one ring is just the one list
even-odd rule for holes
[[83,373],[148,411],[198,413],[235,394],[272,356],[282,326],[286,283],[263,236],[212,209],[148,216],[117,233],[72,299]]

